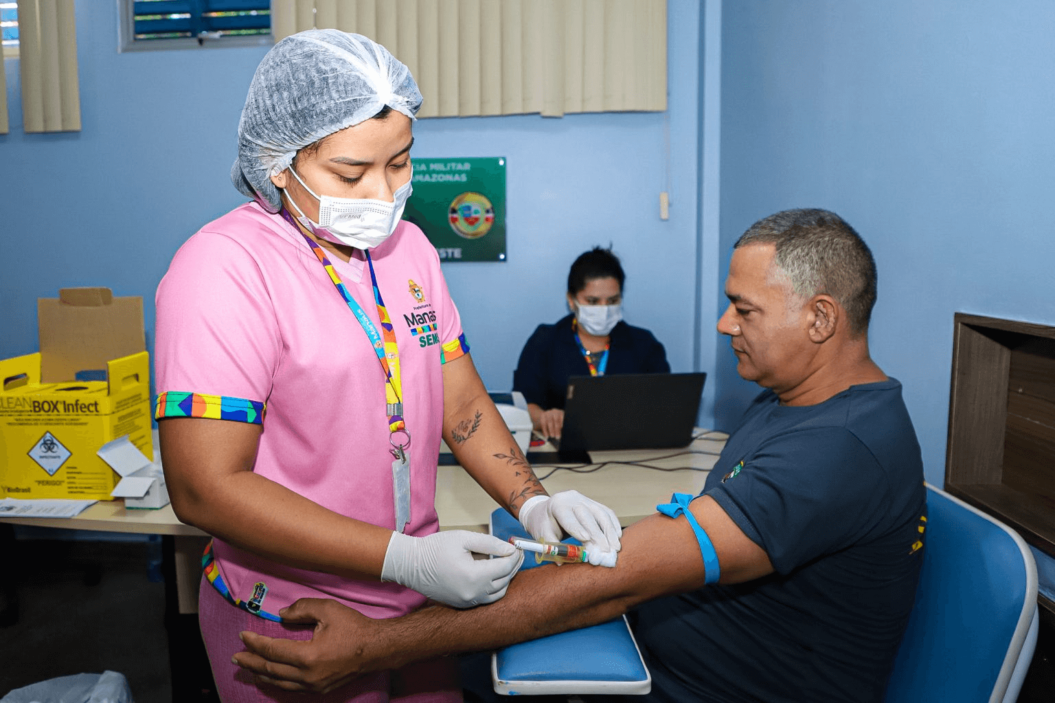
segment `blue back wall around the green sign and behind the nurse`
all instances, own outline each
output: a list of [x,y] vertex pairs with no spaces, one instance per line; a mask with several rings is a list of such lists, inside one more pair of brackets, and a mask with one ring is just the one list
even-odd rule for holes
[[[76,3],[81,132],[26,135],[18,61],[5,62],[12,128],[0,135],[0,357],[38,348],[36,298],[70,286],[143,296],[150,343],[154,290],[172,254],[244,200],[228,172],[266,47],[118,54],[115,5]],[[699,8],[671,0],[669,17],[667,113],[415,125],[417,157],[509,159],[507,261],[444,263],[491,388],[509,388],[534,327],[564,314],[568,267],[597,243],[611,242],[622,258],[628,319],[664,341],[675,371],[702,363],[694,345]],[[671,217],[661,221],[668,171]],[[710,291],[716,274],[708,275]],[[710,354],[708,345],[707,363]],[[707,401],[701,423],[712,422]]]

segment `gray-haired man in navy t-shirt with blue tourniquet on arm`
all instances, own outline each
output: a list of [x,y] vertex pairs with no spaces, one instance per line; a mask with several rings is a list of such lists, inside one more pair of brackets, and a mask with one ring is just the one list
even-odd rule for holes
[[926,506],[901,384],[868,354],[871,253],[835,213],[776,213],[736,242],[725,291],[717,330],[766,390],[704,491],[628,528],[615,569],[535,568],[495,604],[385,621],[299,601],[283,618],[319,623],[313,641],[250,634],[238,664],[323,690],[629,611],[652,673],[644,700],[882,700]]

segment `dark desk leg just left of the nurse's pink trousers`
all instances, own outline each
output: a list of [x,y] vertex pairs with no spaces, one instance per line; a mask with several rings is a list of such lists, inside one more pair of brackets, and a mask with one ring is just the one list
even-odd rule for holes
[[[165,627],[169,632],[169,668],[173,703],[219,703],[209,658],[197,622],[197,579],[207,538],[161,536],[165,574]],[[191,578],[192,574],[197,574]],[[190,585],[193,582],[193,586]]]

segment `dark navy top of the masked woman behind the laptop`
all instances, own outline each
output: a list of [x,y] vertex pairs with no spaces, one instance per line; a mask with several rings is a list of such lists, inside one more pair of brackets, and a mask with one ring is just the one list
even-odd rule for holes
[[[520,352],[513,372],[513,390],[543,410],[563,408],[569,376],[589,376],[572,329],[574,315],[556,325],[539,325]],[[651,332],[620,321],[609,334],[606,374],[670,373],[667,352]]]

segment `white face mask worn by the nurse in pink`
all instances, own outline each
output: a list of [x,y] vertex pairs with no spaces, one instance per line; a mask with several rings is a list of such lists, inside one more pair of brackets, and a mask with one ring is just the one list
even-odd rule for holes
[[403,216],[406,199],[410,197],[410,181],[396,189],[392,201],[372,200],[369,198],[334,198],[329,195],[315,195],[308,184],[289,167],[289,172],[296,182],[304,187],[319,200],[319,221],[312,222],[289,198],[296,208],[301,224],[311,230],[316,236],[335,245],[346,245],[356,249],[370,249],[391,236]]

